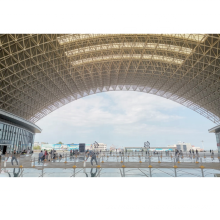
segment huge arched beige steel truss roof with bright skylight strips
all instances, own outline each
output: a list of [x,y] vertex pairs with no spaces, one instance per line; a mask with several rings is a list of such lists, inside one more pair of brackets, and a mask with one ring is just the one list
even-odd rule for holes
[[37,122],[81,97],[139,91],[220,124],[219,34],[2,34],[0,109]]

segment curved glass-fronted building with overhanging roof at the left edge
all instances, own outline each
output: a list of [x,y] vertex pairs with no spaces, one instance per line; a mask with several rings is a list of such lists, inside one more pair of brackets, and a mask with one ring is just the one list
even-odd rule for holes
[[35,133],[41,129],[15,115],[0,111],[0,150],[3,154],[32,149]]

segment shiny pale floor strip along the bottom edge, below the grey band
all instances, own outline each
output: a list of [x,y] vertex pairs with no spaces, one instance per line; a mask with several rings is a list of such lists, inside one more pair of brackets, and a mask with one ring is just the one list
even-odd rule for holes
[[0,177],[214,177],[220,170],[177,168],[2,168]]

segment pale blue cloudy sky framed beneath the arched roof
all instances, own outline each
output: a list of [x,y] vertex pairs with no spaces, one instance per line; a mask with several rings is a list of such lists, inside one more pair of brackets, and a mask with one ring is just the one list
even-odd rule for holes
[[[73,101],[36,123],[36,142],[105,143],[107,147],[166,147],[179,141],[216,149],[213,122],[171,100],[134,91],[111,91]],[[203,146],[202,146],[202,141]]]

